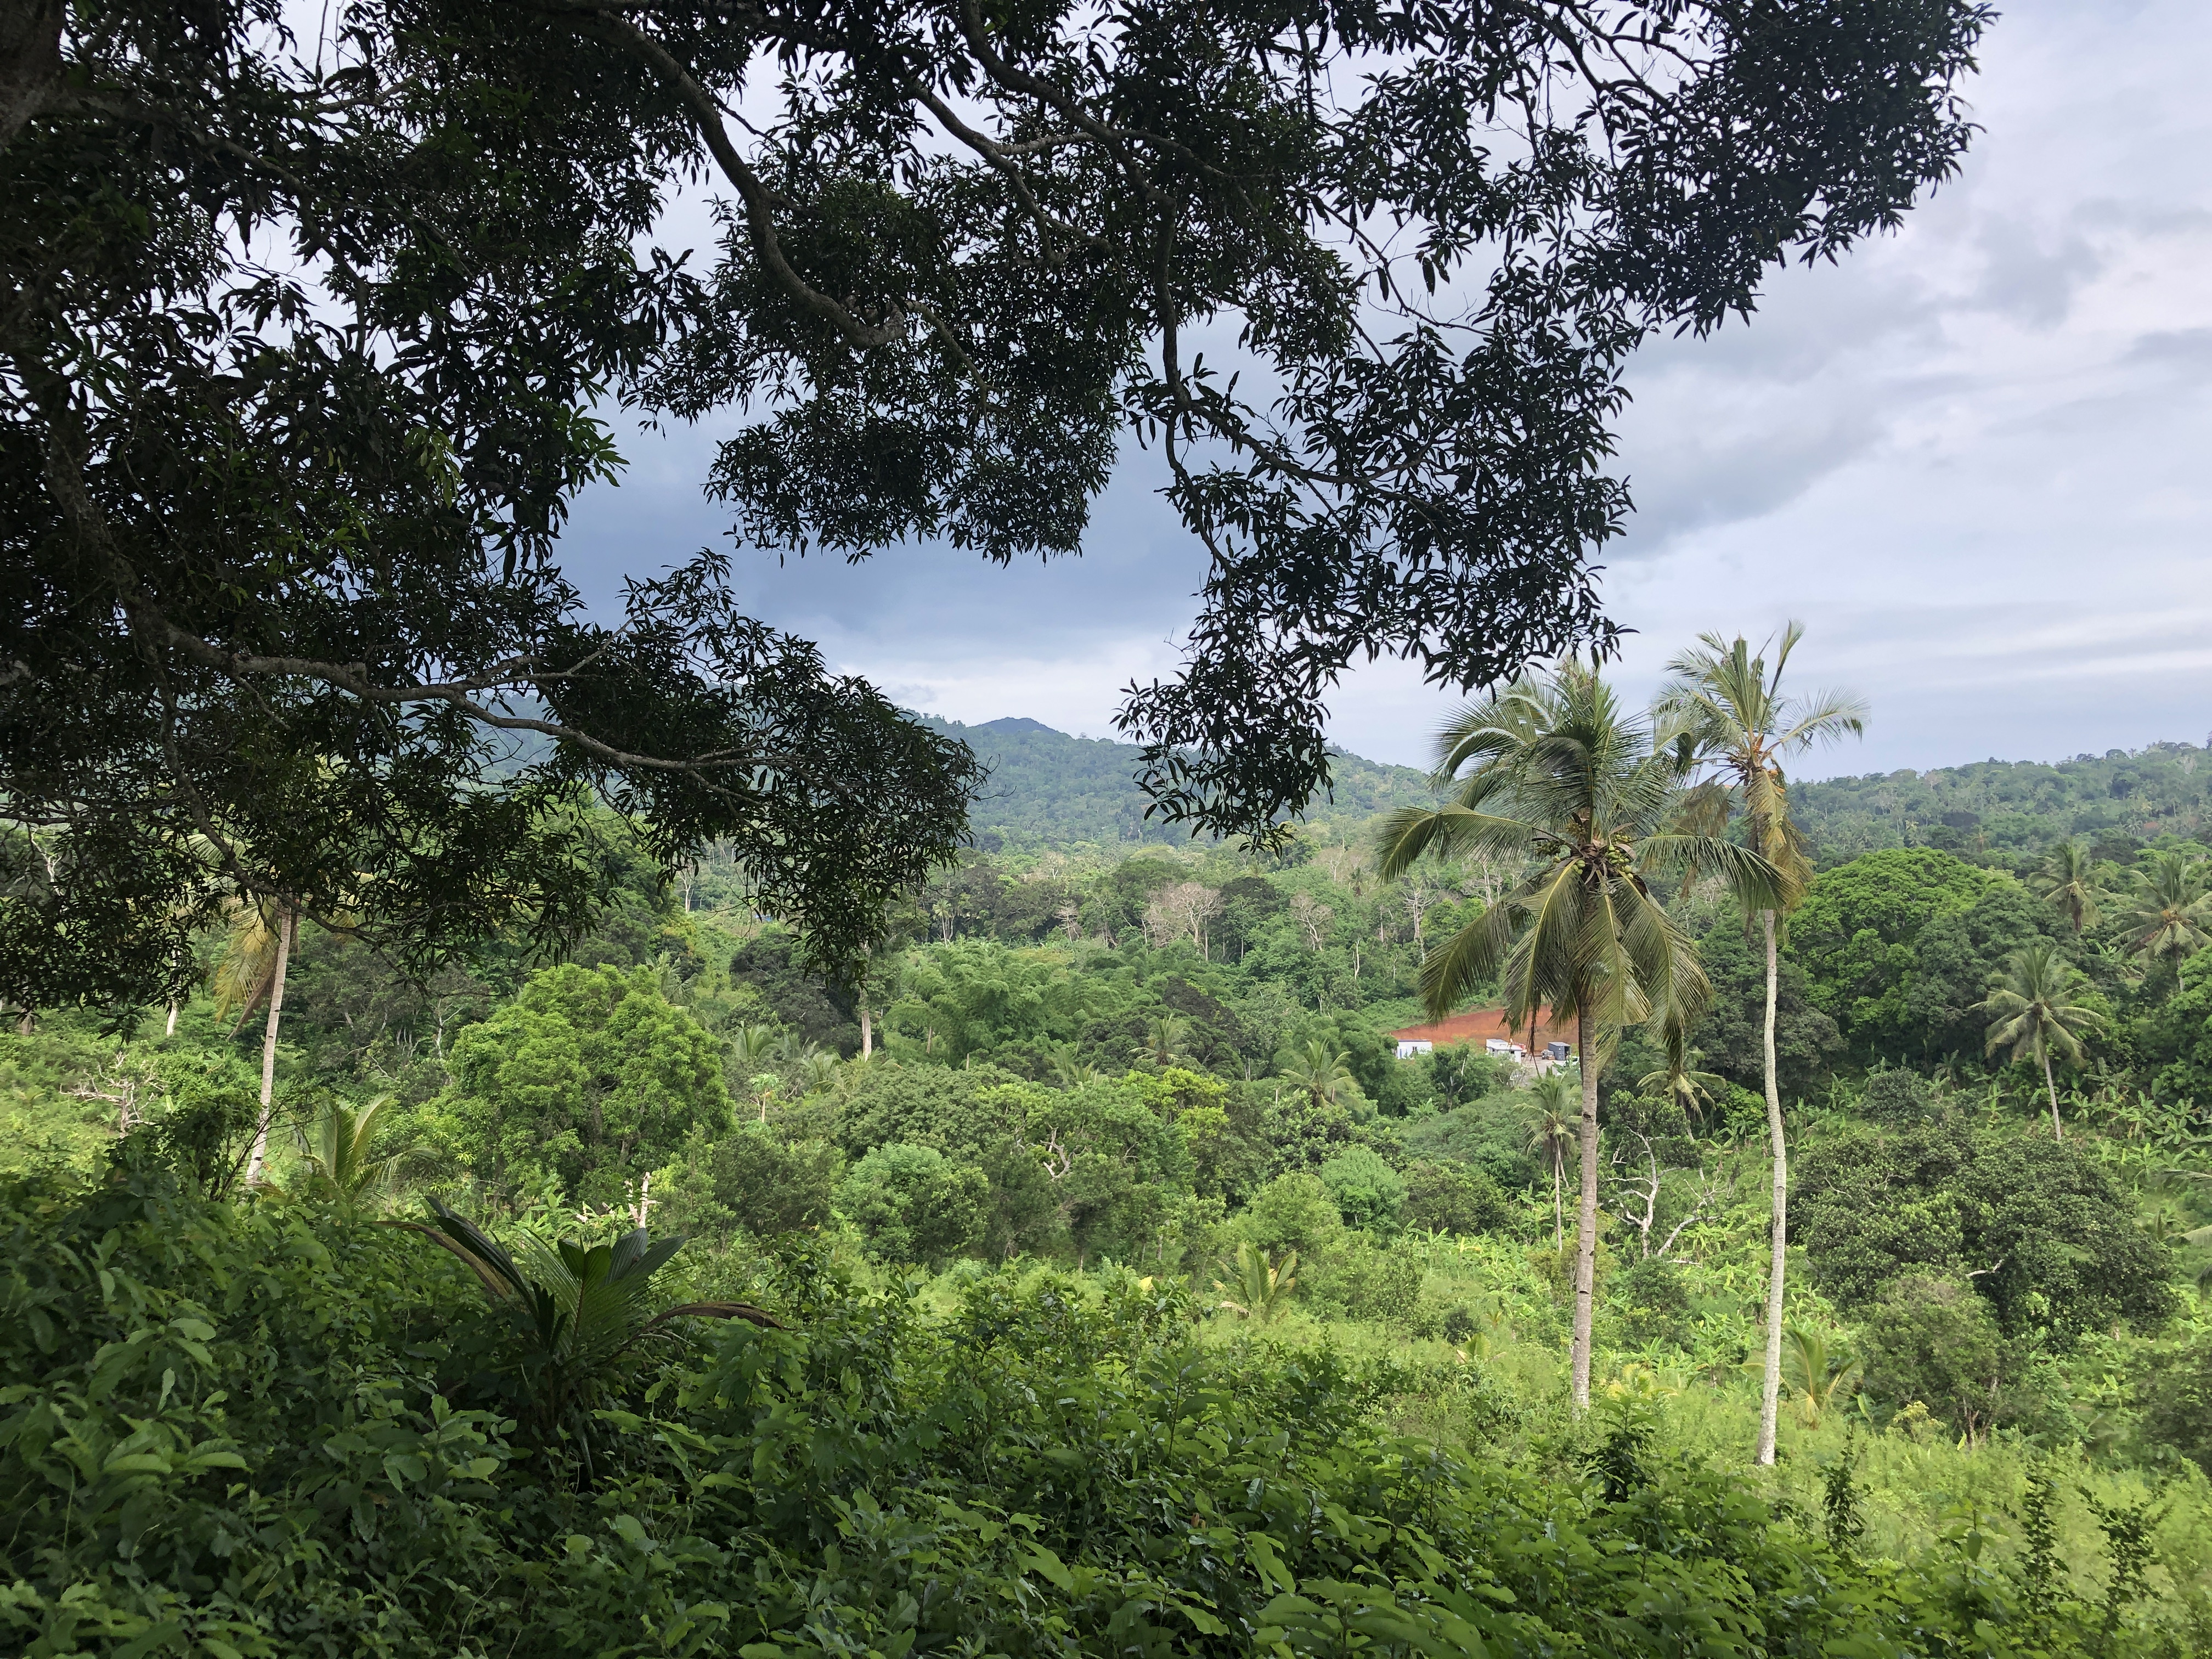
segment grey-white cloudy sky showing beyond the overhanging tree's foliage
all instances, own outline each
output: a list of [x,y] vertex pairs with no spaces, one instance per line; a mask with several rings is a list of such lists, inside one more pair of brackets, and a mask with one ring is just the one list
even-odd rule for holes
[[[1807,624],[1801,684],[1874,703],[1807,772],[2064,759],[2212,730],[2212,7],[2022,0],[1969,88],[1958,181],[1840,268],[1790,272],[1750,327],[1630,372],[1637,498],[1606,549],[1621,679],[1701,630]],[[626,442],[571,571],[606,595],[714,542],[714,429]],[[945,549],[858,566],[741,555],[757,613],[898,701],[1110,734],[1168,672],[1203,557],[1133,456],[1084,557],[995,571]],[[1383,664],[1336,739],[1420,763],[1453,699]]]

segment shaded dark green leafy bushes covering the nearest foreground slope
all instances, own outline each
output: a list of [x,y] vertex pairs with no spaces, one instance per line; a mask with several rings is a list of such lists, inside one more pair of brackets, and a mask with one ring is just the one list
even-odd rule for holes
[[416,1234],[126,1159],[0,1188],[0,1644],[42,1659],[2073,1641],[1978,1548],[1858,1566],[1699,1467],[1389,1438],[1389,1367],[1194,1347],[1135,1276],[987,1274],[922,1321],[792,1259],[754,1290],[792,1329],[622,1378],[582,1486],[509,1444],[507,1332]]

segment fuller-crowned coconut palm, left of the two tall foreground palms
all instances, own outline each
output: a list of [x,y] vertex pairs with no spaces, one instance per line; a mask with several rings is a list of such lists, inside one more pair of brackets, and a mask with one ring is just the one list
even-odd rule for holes
[[1380,836],[1385,880],[1436,852],[1524,856],[1522,878],[1431,951],[1420,987],[1442,1018],[1498,980],[1511,1024],[1548,1006],[1575,1022],[1582,1060],[1573,1398],[1590,1405],[1597,1270],[1597,1079],[1613,1037],[1657,1022],[1679,1037],[1712,995],[1694,942],[1652,896],[1652,876],[1717,878],[1745,907],[1781,905],[1781,872],[1719,836],[1670,830],[1681,763],[1652,752],[1595,668],[1562,664],[1471,703],[1438,732],[1440,810],[1402,807]]

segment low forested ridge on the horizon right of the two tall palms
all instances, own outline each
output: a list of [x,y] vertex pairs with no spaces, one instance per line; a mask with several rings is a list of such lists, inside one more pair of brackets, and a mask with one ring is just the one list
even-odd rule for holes
[[2070,761],[1973,761],[1933,772],[1874,772],[1801,783],[1790,792],[1820,863],[1878,847],[2024,854],[2066,836],[2128,863],[2159,836],[2203,841],[2212,750],[2150,743]]

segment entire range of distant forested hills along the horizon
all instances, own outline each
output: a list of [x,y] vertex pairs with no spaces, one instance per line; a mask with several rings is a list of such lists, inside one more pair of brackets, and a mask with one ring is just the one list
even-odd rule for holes
[[[1181,830],[1146,821],[1135,783],[1144,750],[1135,743],[1068,737],[1020,717],[982,726],[925,719],[967,739],[991,765],[973,814],[984,852],[1183,841]],[[2152,743],[2057,763],[1973,761],[1798,783],[1792,807],[1827,865],[1878,847],[2002,858],[2064,836],[2084,836],[2099,843],[2099,856],[2126,863],[2135,847],[2159,836],[2205,838],[2208,790],[2212,752]],[[1416,768],[1338,754],[1336,799],[1318,803],[1312,818],[1349,825],[1429,799]]]

